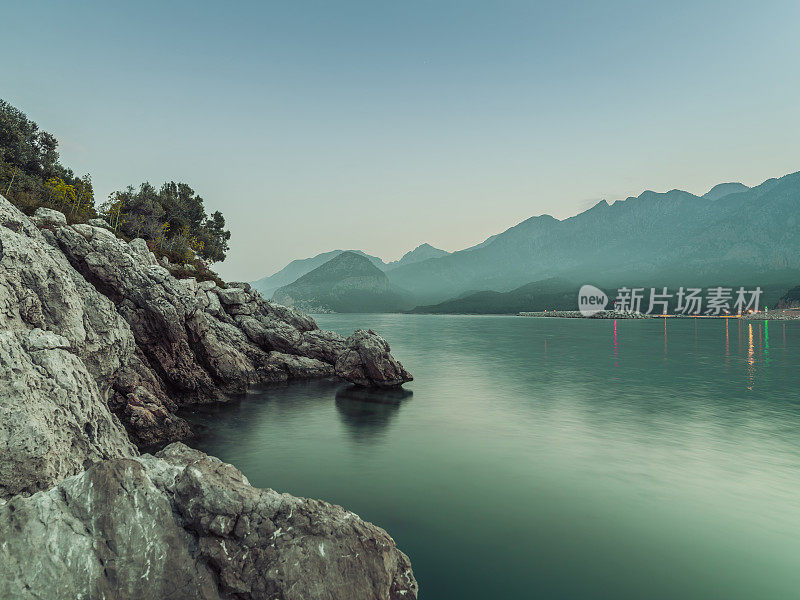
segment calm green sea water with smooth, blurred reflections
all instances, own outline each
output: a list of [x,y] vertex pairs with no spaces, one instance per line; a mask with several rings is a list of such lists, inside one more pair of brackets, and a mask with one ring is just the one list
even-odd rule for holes
[[800,323],[317,320],[413,394],[278,386],[199,446],[387,529],[424,600],[800,597]]

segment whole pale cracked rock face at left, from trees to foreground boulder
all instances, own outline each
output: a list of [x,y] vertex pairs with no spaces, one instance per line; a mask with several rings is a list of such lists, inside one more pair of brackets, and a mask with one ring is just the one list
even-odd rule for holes
[[2,498],[136,450],[105,402],[135,347],[127,324],[2,197],[0,244]]

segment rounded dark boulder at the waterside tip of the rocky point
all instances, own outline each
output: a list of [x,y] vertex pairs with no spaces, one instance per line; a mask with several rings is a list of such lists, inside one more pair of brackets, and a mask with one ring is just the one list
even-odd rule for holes
[[396,388],[414,378],[389,352],[388,342],[371,329],[358,329],[336,361],[336,375],[363,387]]

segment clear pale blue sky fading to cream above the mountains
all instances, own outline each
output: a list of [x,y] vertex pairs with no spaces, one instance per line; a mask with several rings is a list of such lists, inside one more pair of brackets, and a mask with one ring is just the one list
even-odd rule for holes
[[0,98],[99,200],[185,181],[226,279],[800,170],[800,3],[13,2]]

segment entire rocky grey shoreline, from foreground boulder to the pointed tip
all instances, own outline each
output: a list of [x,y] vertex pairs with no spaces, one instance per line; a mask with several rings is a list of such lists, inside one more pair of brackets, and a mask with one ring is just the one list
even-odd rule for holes
[[385,340],[2,196],[0,243],[0,597],[416,598],[408,558],[356,515],[182,444],[137,449],[191,439],[179,408],[253,386],[397,387]]

